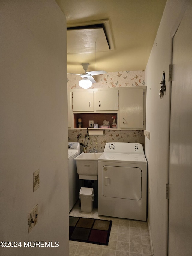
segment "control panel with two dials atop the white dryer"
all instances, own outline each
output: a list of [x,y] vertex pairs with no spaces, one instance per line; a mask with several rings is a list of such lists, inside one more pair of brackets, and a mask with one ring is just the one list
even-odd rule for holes
[[143,146],[139,143],[129,142],[108,142],[104,152],[124,153],[124,154],[144,154]]

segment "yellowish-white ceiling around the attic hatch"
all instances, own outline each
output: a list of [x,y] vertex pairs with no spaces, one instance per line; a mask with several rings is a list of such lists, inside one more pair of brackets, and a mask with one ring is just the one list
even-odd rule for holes
[[145,70],[167,0],[55,1],[67,18],[67,27],[107,20],[107,35],[113,44],[112,50],[99,51],[97,40],[95,52],[95,44],[92,50],[86,48],[90,33],[86,42],[74,34],[69,43],[67,35],[67,50],[69,45],[73,52],[79,51],[74,50],[76,47],[81,49],[78,53],[67,53],[67,73],[82,73],[83,62],[90,63],[88,71],[95,71],[95,66],[107,72]]

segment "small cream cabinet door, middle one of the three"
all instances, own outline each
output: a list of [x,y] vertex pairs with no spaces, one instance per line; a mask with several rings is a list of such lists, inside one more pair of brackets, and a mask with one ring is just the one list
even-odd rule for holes
[[118,110],[118,90],[101,90],[94,92],[94,110]]

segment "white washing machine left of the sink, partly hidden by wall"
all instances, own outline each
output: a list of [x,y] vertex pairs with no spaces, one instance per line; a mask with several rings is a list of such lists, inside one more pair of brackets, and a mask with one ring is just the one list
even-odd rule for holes
[[79,177],[74,158],[80,154],[79,142],[69,142],[69,212],[79,198]]

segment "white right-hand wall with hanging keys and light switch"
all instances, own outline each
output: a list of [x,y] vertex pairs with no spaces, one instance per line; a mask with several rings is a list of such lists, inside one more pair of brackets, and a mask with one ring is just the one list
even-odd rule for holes
[[[172,62],[172,31],[184,1],[168,0],[152,52],[146,67],[147,108],[146,158],[148,161],[149,206],[148,220],[155,256],[167,255],[168,200],[165,198],[169,170],[170,82],[169,64]],[[159,90],[163,71],[167,90],[162,99]]]

